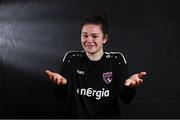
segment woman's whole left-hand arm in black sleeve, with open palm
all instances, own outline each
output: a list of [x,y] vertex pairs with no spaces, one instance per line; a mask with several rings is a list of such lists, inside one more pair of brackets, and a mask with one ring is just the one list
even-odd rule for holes
[[60,72],[55,73],[46,70],[49,79],[56,83],[54,85],[54,93],[59,101],[66,101],[70,97],[71,80],[73,77],[73,67],[71,62],[71,54],[67,53],[61,63]]

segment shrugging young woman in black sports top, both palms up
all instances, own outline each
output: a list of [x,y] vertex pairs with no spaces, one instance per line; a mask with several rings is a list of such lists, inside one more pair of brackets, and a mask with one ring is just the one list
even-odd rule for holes
[[119,102],[130,103],[135,87],[143,82],[141,78],[146,72],[129,77],[123,54],[104,51],[107,40],[105,14],[91,15],[82,24],[84,51],[66,53],[60,73],[46,70],[49,78],[57,83],[57,97],[66,101],[74,118],[119,118]]

